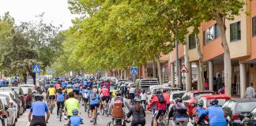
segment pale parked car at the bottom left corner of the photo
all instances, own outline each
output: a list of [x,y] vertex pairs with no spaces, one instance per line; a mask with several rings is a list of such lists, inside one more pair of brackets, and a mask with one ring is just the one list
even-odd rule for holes
[[6,95],[0,95],[0,100],[2,104],[5,106],[5,109],[7,111],[7,122],[5,122],[5,125],[11,125],[15,126],[16,124],[16,115],[15,115],[15,107],[13,104],[9,102],[9,97]]

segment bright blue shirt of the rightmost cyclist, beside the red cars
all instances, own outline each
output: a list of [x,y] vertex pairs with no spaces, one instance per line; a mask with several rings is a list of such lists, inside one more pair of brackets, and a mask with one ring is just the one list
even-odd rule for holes
[[220,106],[210,106],[205,109],[204,115],[209,114],[209,125],[210,126],[226,126],[227,122],[224,117],[224,111]]

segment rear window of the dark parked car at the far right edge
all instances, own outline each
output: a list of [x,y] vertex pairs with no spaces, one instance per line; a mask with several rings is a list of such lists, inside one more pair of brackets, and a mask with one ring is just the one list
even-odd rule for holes
[[238,112],[250,112],[255,107],[256,107],[256,101],[238,102],[235,110]]

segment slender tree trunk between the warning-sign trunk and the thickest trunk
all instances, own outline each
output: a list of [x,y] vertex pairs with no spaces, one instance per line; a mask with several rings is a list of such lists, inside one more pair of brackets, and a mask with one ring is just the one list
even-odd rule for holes
[[198,75],[198,84],[200,85],[200,89],[198,90],[204,90],[204,72],[203,72],[203,69],[204,69],[204,65],[203,65],[203,61],[202,61],[202,57],[203,55],[201,54],[201,46],[200,46],[200,40],[199,40],[199,37],[198,37],[198,34],[195,35],[195,41],[196,41],[196,45],[197,45],[197,50],[198,50],[198,61],[199,61],[199,75]]

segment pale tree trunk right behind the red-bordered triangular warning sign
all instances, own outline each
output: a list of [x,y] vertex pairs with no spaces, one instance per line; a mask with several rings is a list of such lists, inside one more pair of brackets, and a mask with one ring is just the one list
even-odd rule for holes
[[184,59],[185,59],[185,66],[186,69],[188,69],[188,72],[186,72],[185,76],[186,76],[186,91],[190,91],[191,90],[191,71],[190,71],[190,57],[188,55],[188,48],[187,48],[187,43],[186,45],[184,45]]

